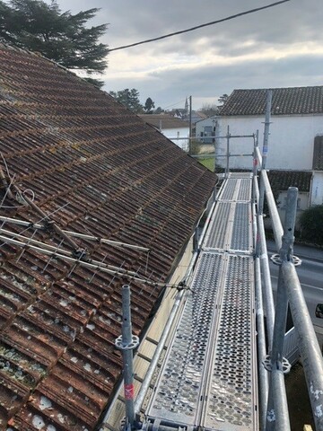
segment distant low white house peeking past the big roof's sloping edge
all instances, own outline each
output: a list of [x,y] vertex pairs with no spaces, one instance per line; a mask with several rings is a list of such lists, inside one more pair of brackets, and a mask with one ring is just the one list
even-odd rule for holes
[[163,136],[166,136],[182,150],[188,151],[188,122],[177,119],[169,114],[141,114],[141,119],[159,130]]

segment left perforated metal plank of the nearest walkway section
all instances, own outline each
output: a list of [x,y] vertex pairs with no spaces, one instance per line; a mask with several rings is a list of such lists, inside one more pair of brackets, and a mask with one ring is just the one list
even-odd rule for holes
[[223,256],[203,253],[148,416],[196,426],[212,334]]

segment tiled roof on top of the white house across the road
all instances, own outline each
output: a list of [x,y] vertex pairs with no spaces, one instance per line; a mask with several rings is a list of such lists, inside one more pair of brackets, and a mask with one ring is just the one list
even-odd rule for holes
[[[323,113],[323,86],[272,88],[272,115]],[[267,89],[234,90],[221,116],[264,115]]]

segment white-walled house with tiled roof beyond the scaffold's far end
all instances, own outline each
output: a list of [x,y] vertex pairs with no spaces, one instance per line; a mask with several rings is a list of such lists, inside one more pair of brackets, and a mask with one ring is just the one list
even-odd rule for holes
[[[310,206],[323,204],[323,86],[234,90],[218,119],[217,136],[252,135],[259,130],[262,147],[266,93],[272,91],[266,168],[312,172]],[[231,154],[249,154],[252,139],[230,139]],[[227,139],[216,139],[216,154],[227,153]],[[217,157],[225,166],[226,160]],[[230,158],[231,169],[250,169],[249,157]]]

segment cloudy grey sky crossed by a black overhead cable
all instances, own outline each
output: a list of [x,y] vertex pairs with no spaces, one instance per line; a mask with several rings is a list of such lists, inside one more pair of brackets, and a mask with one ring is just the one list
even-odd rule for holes
[[[193,109],[237,88],[323,84],[322,0],[290,0],[203,29],[109,53],[104,90],[136,88],[144,103]],[[274,0],[58,0],[62,11],[100,8],[103,42],[117,48],[212,22]]]

